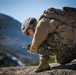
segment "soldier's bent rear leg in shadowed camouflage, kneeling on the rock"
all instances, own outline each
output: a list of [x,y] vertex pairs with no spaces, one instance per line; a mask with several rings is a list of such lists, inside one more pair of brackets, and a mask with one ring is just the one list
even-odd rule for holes
[[76,58],[76,47],[59,50],[57,53],[57,62],[66,64]]

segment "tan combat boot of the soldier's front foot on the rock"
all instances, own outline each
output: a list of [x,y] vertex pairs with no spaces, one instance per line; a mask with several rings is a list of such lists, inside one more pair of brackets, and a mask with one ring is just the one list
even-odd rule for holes
[[48,64],[47,59],[42,59],[42,60],[40,60],[40,64],[39,64],[38,68],[35,69],[34,72],[42,72],[45,70],[50,70],[50,66]]

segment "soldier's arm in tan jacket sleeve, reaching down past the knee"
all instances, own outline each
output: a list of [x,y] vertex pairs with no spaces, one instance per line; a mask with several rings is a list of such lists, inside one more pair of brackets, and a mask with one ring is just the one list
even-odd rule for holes
[[32,54],[35,54],[37,52],[38,47],[47,38],[49,32],[52,33],[55,30],[56,26],[55,27],[52,26],[53,29],[51,28],[50,30],[51,27],[50,24],[54,26],[54,22],[53,21],[49,22],[49,20],[39,21],[39,23],[37,24],[32,44],[30,47],[30,51]]

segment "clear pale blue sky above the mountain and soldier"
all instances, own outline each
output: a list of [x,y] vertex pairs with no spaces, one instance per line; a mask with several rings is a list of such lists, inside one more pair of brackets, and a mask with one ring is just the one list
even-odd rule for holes
[[39,18],[43,11],[50,8],[70,6],[76,8],[76,0],[0,0],[0,13],[20,21],[29,17]]

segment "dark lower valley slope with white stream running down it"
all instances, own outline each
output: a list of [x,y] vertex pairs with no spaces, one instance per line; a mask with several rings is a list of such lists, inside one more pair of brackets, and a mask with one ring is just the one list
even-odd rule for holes
[[29,56],[16,53],[15,51],[0,45],[0,67],[24,66],[32,62]]

